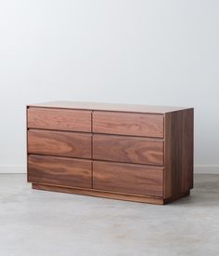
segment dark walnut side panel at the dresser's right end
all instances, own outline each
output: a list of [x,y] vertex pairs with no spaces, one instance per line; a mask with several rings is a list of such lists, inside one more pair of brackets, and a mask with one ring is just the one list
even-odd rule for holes
[[165,115],[164,198],[193,187],[193,109]]

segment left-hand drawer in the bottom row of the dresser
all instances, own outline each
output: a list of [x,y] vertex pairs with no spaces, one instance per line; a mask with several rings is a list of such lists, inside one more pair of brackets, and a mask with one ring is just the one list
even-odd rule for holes
[[28,182],[71,187],[92,187],[90,160],[29,155]]

